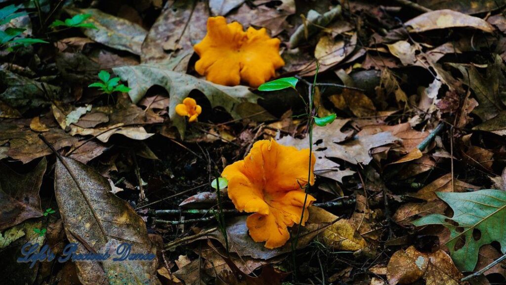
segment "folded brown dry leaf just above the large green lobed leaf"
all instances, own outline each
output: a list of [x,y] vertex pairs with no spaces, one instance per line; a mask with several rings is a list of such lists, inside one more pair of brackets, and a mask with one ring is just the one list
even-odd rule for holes
[[416,197],[418,199],[424,199],[426,201],[434,201],[439,200],[436,192],[467,192],[468,189],[478,190],[479,187],[476,187],[472,184],[468,184],[462,182],[457,179],[453,179],[453,187],[452,187],[452,179],[451,173],[445,174],[431,184],[425,186],[424,188],[418,190],[415,194],[408,194],[409,196]]

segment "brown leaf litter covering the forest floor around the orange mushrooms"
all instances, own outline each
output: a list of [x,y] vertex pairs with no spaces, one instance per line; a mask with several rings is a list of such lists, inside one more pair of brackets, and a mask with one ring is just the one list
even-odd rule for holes
[[[2,6],[2,39],[21,40],[0,47],[5,282],[503,282],[504,262],[493,262],[506,254],[506,4],[383,5]],[[51,25],[76,15],[87,24]],[[195,71],[193,47],[214,16],[280,40],[278,81],[223,86]],[[175,111],[187,97],[201,108],[192,122]],[[308,221],[272,250],[251,238],[228,198],[234,185],[215,189],[261,139],[312,141],[316,158]],[[57,254],[68,242],[112,253],[128,241],[156,257],[29,268],[15,262],[27,241]]]

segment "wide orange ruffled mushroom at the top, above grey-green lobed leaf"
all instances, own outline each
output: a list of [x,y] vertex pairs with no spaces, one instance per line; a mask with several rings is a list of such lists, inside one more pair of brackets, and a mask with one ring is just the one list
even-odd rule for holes
[[258,87],[284,65],[279,44],[265,28],[244,31],[238,22],[227,24],[222,16],[209,17],[207,34],[193,47],[200,56],[195,70],[217,84],[235,86],[242,81]]

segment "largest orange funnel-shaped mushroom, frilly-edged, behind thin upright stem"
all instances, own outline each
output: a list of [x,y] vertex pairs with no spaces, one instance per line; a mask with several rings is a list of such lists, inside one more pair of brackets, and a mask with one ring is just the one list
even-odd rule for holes
[[249,235],[265,247],[282,246],[289,239],[287,227],[308,220],[307,207],[316,199],[304,187],[314,184],[314,164],[309,149],[279,145],[275,140],[255,142],[244,160],[228,165],[222,176],[228,180],[228,196],[239,211],[254,212],[246,220]]

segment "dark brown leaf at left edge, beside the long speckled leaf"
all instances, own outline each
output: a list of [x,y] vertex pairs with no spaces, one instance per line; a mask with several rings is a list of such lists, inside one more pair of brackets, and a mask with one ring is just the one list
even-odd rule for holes
[[46,164],[43,158],[32,171],[19,174],[0,163],[0,230],[42,216],[38,191]]

